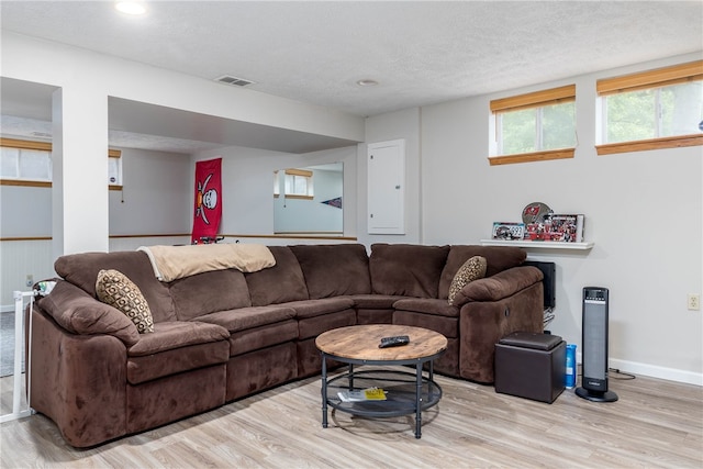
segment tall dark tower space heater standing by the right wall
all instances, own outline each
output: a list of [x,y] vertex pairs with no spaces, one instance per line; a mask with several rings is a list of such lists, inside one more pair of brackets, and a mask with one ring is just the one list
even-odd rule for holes
[[576,389],[576,394],[595,402],[617,401],[617,394],[607,390],[607,298],[606,288],[583,289],[583,367],[581,387]]

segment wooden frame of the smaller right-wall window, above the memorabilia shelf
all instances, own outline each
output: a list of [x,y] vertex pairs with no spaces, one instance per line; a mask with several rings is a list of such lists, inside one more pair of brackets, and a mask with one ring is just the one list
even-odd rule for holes
[[[563,104],[576,102],[576,85],[566,85],[557,88],[534,91],[524,94],[491,100],[489,108],[492,119],[494,120],[495,145],[499,149],[499,142],[502,137],[502,119],[501,114],[525,109],[542,109],[554,104]],[[537,113],[535,122],[536,143],[542,143],[542,112]],[[573,132],[576,133],[576,122]],[[544,161],[549,159],[573,158],[576,147],[538,149],[536,152],[517,153],[517,154],[496,154],[489,156],[488,160],[491,166],[507,165],[515,163]]]

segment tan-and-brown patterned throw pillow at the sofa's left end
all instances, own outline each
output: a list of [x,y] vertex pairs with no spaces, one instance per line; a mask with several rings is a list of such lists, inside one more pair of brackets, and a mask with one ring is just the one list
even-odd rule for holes
[[140,334],[154,332],[152,310],[142,291],[119,270],[100,270],[96,281],[98,299],[122,311],[132,320]]

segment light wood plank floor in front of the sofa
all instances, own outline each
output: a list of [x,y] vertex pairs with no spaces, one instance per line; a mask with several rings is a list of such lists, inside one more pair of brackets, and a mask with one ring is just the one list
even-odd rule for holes
[[321,426],[320,379],[293,382],[86,450],[43,415],[2,424],[0,467],[702,468],[703,388],[611,375],[615,403],[566,390],[554,404],[437,377],[444,398],[413,417],[342,412]]

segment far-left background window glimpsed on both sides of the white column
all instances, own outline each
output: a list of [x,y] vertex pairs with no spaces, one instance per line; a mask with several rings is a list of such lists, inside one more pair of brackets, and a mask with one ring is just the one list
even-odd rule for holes
[[[122,152],[108,150],[108,185],[122,189]],[[5,186],[52,187],[52,144],[0,138],[0,182]]]

